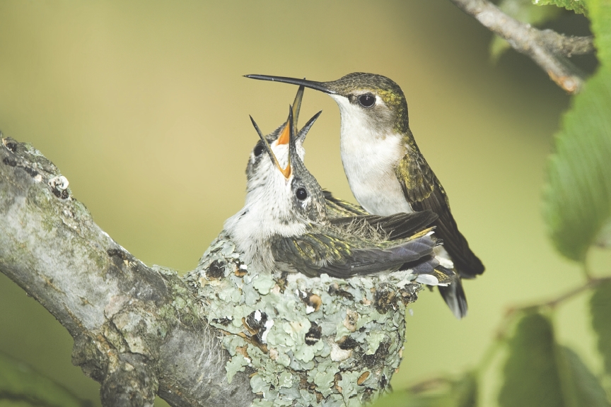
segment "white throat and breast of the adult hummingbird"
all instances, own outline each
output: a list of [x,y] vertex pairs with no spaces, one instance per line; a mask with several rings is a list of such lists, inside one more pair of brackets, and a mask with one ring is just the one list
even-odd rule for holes
[[[352,194],[369,213],[392,215],[412,212],[395,175],[395,167],[405,154],[401,136],[389,129],[377,134],[361,107],[347,98],[330,95],[342,114],[339,141],[344,172]],[[369,124],[369,125],[368,125]]]

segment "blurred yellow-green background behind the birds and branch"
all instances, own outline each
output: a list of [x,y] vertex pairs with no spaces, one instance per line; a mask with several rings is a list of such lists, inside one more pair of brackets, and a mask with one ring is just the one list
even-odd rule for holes
[[[557,24],[587,30],[585,18],[570,14]],[[248,114],[272,131],[296,92],[242,75],[392,78],[460,230],[487,266],[465,283],[466,319],[454,319],[438,293],[422,293],[411,307],[404,362],[392,379],[400,389],[477,364],[508,306],[583,281],[552,249],[540,216],[552,134],[570,98],[515,52],[491,64],[490,39],[447,0],[2,0],[0,129],[50,158],[132,254],[186,272],[243,206],[257,141]],[[354,201],[339,158],[337,105],[306,90],[301,122],[321,109],[306,165],[323,187]],[[593,269],[609,260],[595,253]],[[557,335],[598,372],[586,300],[560,309]],[[0,274],[0,352],[98,406],[98,384],[71,365],[71,345],[62,326]],[[494,377],[485,405],[496,403]]]

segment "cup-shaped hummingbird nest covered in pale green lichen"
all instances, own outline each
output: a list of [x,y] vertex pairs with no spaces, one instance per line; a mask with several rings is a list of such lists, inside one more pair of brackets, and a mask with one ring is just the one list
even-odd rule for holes
[[354,278],[254,273],[221,232],[186,276],[224,334],[231,382],[252,372],[253,406],[360,406],[390,388],[405,340],[410,271]]

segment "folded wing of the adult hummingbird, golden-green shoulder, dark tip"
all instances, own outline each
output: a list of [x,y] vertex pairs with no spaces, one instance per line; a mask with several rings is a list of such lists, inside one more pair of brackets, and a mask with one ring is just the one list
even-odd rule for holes
[[430,210],[439,216],[433,223],[436,226],[435,234],[443,240],[443,247],[450,254],[460,276],[474,278],[483,273],[482,261],[471,251],[469,243],[458,230],[446,191],[419,151],[408,151],[397,165],[396,172],[412,209]]

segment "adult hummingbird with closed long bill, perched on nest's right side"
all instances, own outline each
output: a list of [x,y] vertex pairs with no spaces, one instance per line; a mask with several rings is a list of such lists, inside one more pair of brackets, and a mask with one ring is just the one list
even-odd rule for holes
[[[283,76],[247,75],[248,78],[303,85],[330,95],[342,117],[340,148],[352,193],[369,213],[431,210],[438,215],[437,247],[462,278],[484,272],[450,211],[446,191],[421,154],[409,129],[407,102],[397,83],[374,73],[349,73],[337,81],[315,82]],[[457,318],[467,314],[467,299],[460,278],[440,287],[440,293]]]

